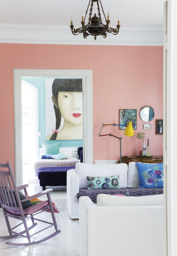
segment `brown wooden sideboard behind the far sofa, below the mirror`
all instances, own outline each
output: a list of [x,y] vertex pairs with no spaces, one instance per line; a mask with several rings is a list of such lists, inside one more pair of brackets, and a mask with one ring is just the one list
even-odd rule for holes
[[163,157],[151,157],[151,158],[144,158],[144,157],[122,157],[122,163],[130,163],[130,162],[142,162],[142,163],[150,163],[150,164],[154,164],[154,163],[162,163],[163,162]]

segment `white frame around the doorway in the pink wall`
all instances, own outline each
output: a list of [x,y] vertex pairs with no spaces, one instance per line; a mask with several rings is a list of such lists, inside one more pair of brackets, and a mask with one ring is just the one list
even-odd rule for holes
[[22,77],[63,77],[83,80],[83,147],[86,163],[93,163],[92,70],[14,69],[15,180],[22,185]]

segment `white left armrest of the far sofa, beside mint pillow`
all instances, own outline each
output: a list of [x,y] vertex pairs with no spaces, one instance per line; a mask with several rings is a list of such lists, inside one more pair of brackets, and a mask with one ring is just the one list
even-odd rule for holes
[[79,193],[79,177],[75,169],[70,169],[67,171],[67,209],[71,219],[79,217],[77,193]]

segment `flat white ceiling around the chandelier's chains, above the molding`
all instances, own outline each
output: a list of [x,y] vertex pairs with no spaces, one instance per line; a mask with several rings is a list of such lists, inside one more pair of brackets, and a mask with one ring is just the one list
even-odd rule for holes
[[[101,0],[110,11],[111,25],[118,16],[123,27],[162,27],[164,0]],[[69,25],[81,22],[89,0],[0,0],[1,24]],[[94,3],[96,5],[96,3]]]

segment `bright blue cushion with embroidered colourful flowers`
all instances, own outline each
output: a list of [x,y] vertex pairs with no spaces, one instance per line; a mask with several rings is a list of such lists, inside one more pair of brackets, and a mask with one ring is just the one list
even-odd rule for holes
[[139,172],[139,188],[163,188],[163,163],[136,162]]

